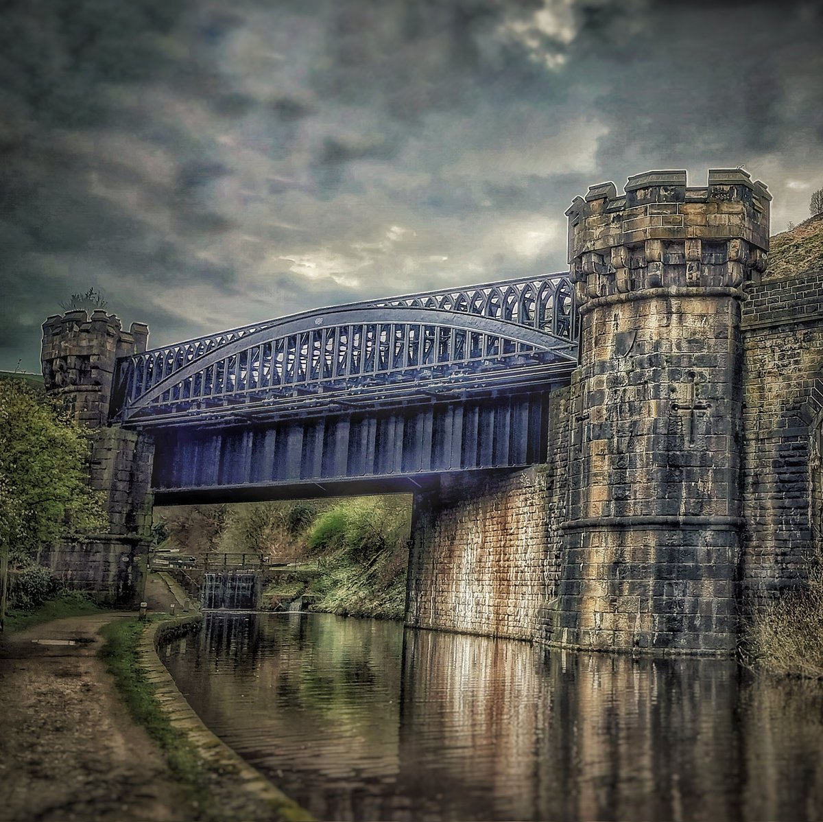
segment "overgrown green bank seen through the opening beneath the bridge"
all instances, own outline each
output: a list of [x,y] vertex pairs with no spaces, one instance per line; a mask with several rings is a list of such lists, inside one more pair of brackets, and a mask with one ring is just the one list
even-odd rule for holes
[[194,563],[267,565],[263,608],[305,596],[312,610],[403,619],[411,520],[411,495],[385,494],[157,509],[155,530]]

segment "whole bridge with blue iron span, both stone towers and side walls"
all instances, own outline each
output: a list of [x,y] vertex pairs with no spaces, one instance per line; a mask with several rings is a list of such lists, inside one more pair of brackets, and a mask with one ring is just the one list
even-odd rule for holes
[[649,171],[575,198],[568,273],[153,350],[50,317],[47,389],[91,428],[111,527],[46,559],[136,600],[152,498],[411,491],[408,624],[732,654],[823,526],[823,273],[770,279],[769,208],[743,170]]

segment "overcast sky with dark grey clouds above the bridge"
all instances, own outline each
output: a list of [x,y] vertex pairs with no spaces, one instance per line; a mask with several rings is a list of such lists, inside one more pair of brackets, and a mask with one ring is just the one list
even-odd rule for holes
[[565,208],[743,165],[823,185],[823,4],[11,0],[0,369],[89,287],[160,345],[565,268]]

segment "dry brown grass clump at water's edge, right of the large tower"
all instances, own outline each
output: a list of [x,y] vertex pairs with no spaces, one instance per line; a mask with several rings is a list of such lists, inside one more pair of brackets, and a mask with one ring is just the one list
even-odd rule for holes
[[823,570],[808,585],[783,595],[751,619],[746,637],[751,664],[780,676],[823,679]]

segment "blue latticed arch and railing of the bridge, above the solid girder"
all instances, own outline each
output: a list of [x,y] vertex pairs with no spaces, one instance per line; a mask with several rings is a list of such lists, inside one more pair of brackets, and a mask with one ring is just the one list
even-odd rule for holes
[[119,418],[398,404],[426,390],[545,379],[577,357],[565,274],[351,303],[156,348],[119,363]]

